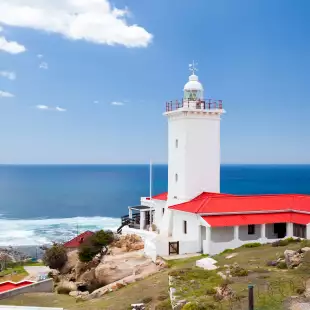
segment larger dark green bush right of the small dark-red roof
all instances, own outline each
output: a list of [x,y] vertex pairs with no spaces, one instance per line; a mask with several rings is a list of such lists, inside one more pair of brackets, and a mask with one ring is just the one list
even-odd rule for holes
[[79,247],[79,259],[81,262],[91,261],[98,253],[114,241],[114,234],[112,231],[97,231],[94,235],[90,236]]

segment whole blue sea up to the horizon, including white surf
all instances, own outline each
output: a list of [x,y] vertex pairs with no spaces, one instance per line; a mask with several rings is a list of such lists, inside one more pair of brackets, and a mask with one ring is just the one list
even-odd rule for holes
[[[153,166],[153,194],[167,191],[167,172]],[[223,165],[221,192],[310,194],[310,165]],[[147,165],[0,165],[0,246],[114,230],[128,206],[148,195]]]

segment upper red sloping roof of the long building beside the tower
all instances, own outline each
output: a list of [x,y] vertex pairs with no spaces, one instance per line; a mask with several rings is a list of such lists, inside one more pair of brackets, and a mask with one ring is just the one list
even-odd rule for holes
[[310,196],[307,195],[210,195],[203,193],[198,197],[170,209],[191,213],[243,213],[262,211],[309,211]]

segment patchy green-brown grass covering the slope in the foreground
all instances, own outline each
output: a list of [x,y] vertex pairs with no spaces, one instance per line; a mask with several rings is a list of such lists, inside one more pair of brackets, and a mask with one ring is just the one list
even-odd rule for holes
[[[304,243],[305,244],[305,243]],[[310,260],[300,269],[278,269],[266,266],[266,262],[276,260],[283,256],[286,249],[297,250],[304,244],[289,243],[286,247],[272,247],[270,244],[259,247],[235,249],[237,256],[227,259],[226,253],[216,255],[219,269],[225,272],[224,265],[238,263],[241,268],[249,271],[247,276],[233,277],[231,288],[236,292],[234,308],[230,308],[227,302],[217,303],[213,299],[214,286],[221,284],[217,271],[205,271],[195,267],[196,260],[201,257],[192,257],[182,260],[168,261],[169,269],[161,271],[139,282],[130,284],[116,292],[109,293],[101,299],[83,303],[76,303],[75,299],[66,295],[56,294],[26,294],[1,301],[4,305],[28,305],[41,307],[63,307],[68,310],[79,309],[105,309],[127,310],[131,303],[137,303],[144,298],[148,299],[148,309],[170,309],[168,299],[168,274],[177,274],[182,291],[181,296],[188,299],[199,300],[201,304],[214,304],[214,309],[247,309],[248,284],[254,285],[255,309],[257,310],[282,310],[283,302],[288,296],[298,295],[305,287],[305,281],[310,277]],[[182,274],[183,270],[183,274]],[[309,275],[309,276],[308,276]],[[194,280],[191,282],[191,280]],[[220,305],[220,307],[219,307]],[[211,308],[210,308],[211,309]]]

